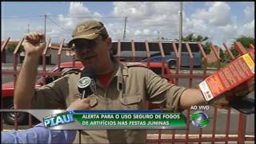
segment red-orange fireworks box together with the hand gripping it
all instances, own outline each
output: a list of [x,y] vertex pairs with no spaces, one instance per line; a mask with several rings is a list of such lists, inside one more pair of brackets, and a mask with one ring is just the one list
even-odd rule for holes
[[243,99],[246,100],[247,95],[254,91],[254,50],[210,75],[199,84],[199,89],[206,102],[212,106],[224,108],[232,104],[232,107],[241,111],[240,109],[250,104],[253,105],[254,112],[254,102],[242,103]]

